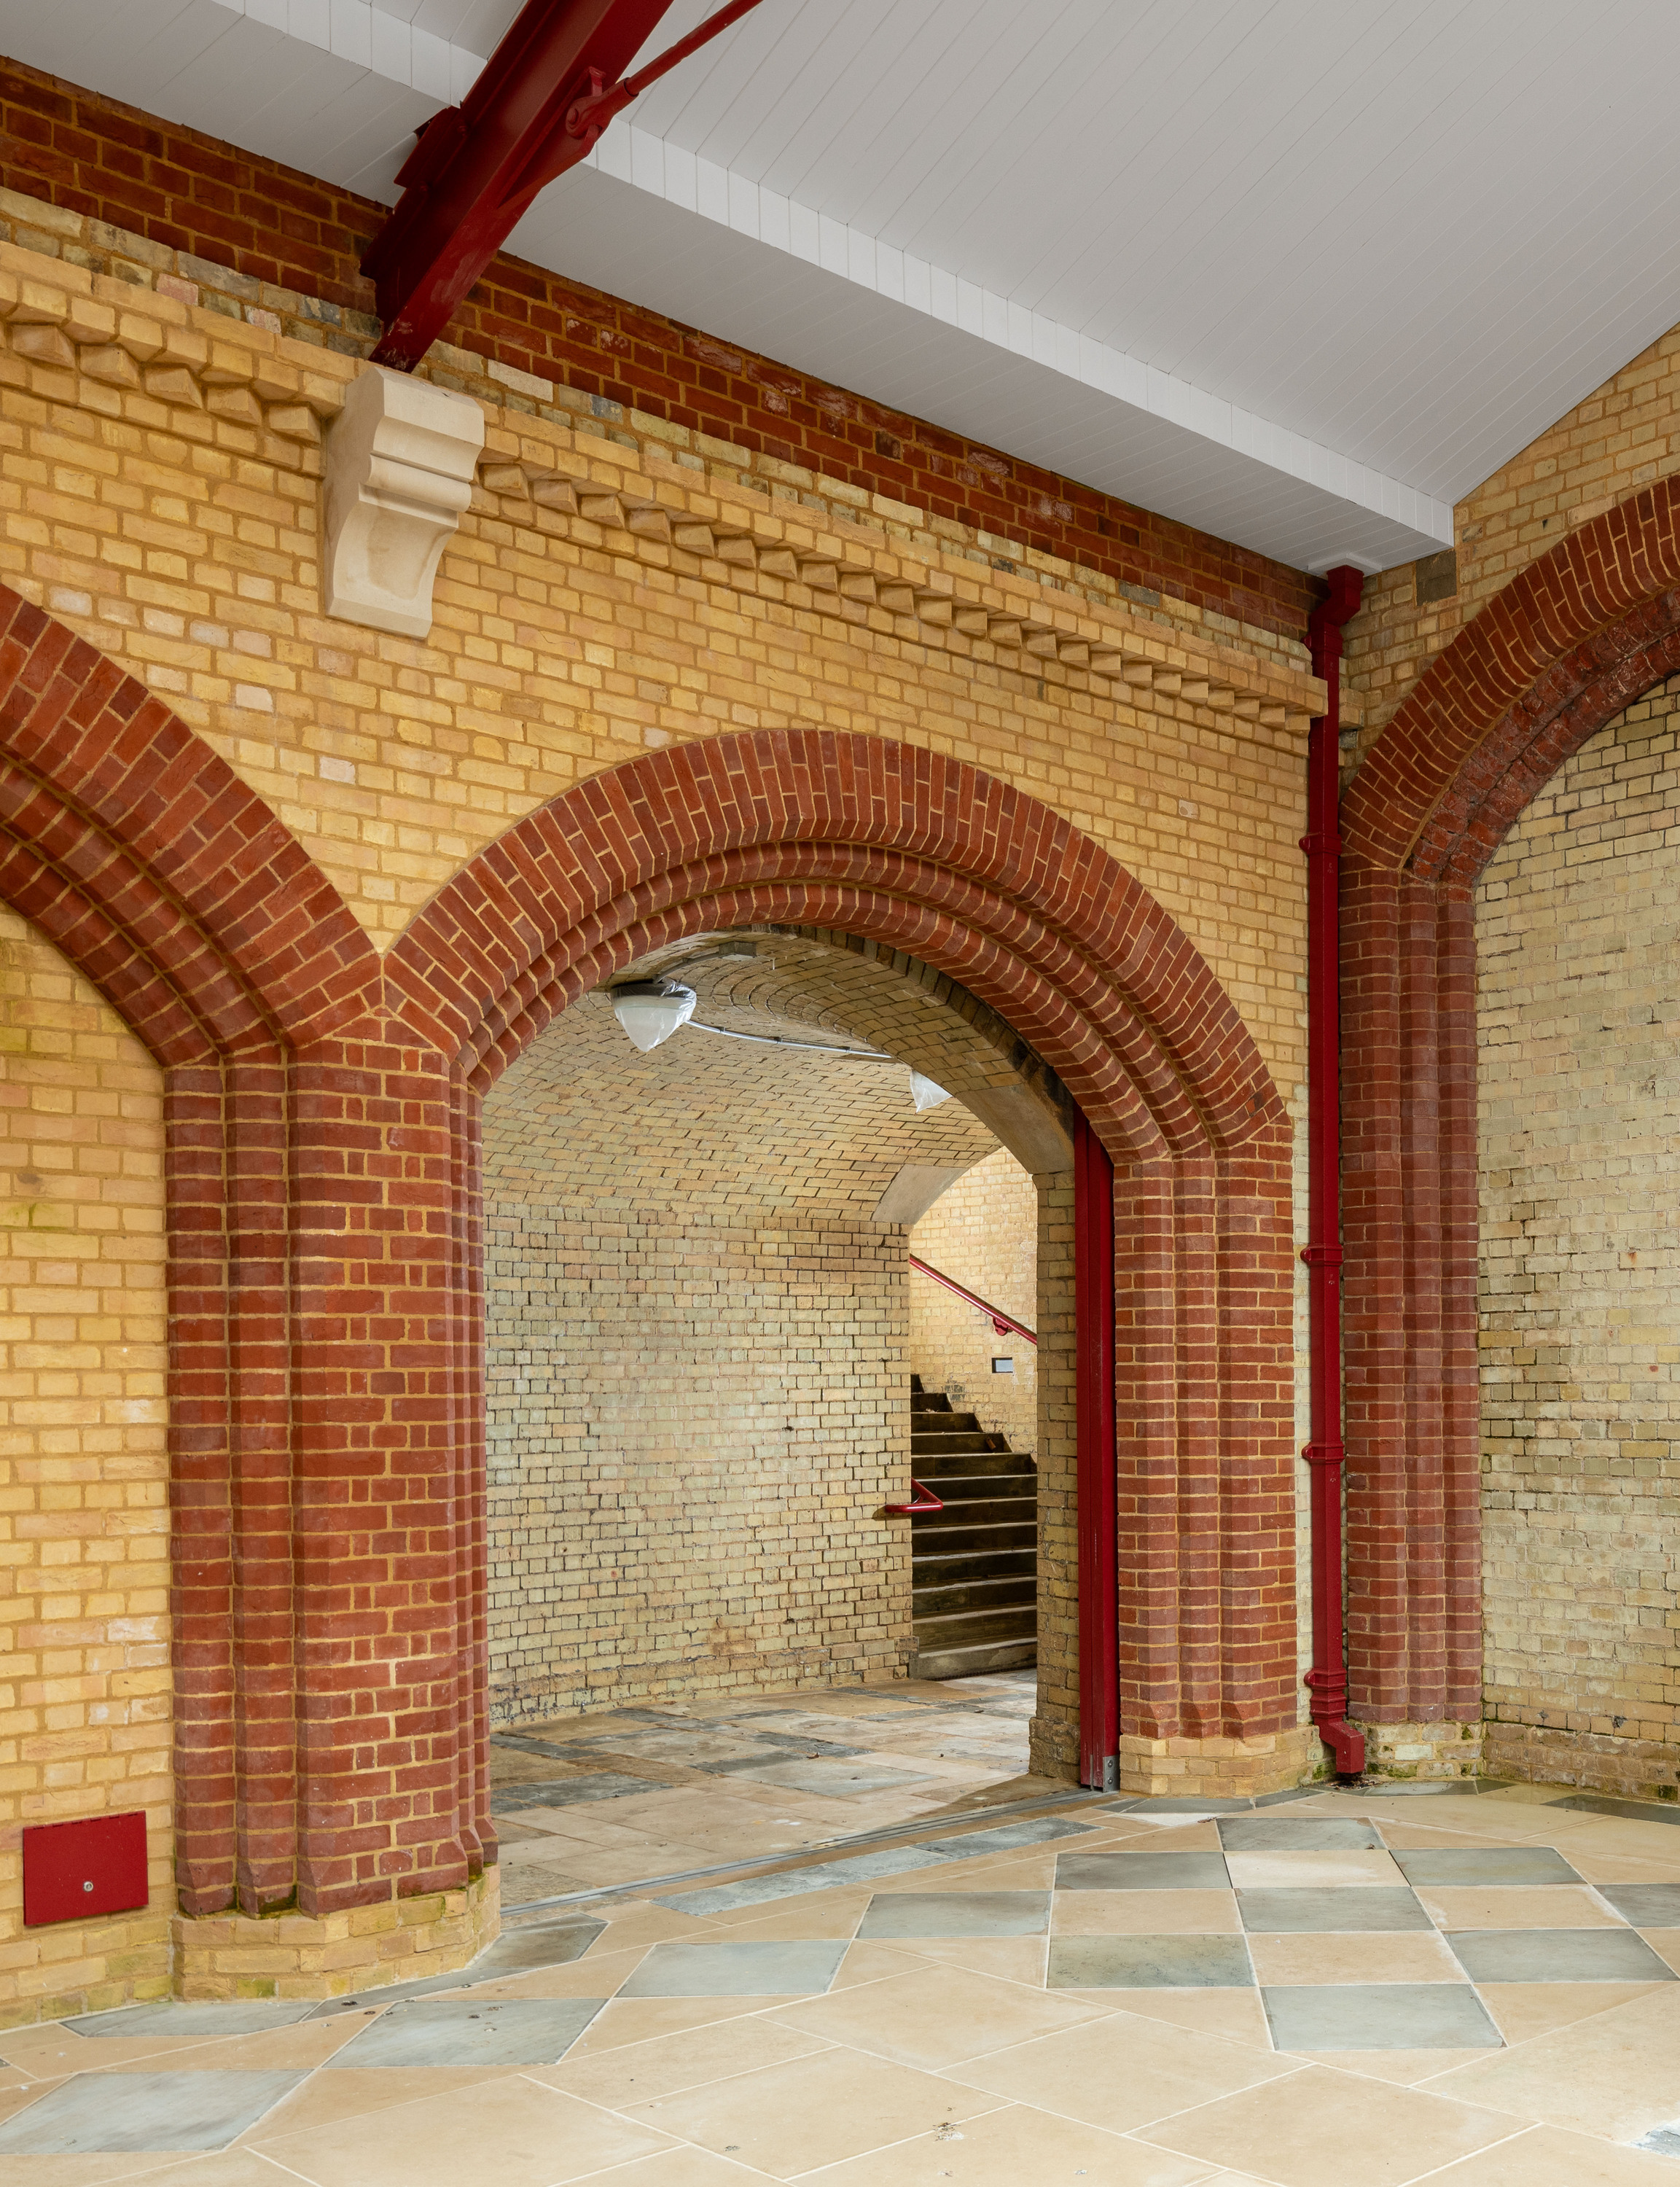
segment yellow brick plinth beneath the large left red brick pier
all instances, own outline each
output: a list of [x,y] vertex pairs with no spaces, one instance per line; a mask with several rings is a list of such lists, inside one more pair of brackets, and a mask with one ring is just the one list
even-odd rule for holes
[[429,1898],[387,1898],[313,1920],[273,1914],[247,1920],[214,1914],[175,1916],[173,1995],[221,1997],[350,1997],[389,1981],[453,1975],[501,1931],[501,1872]]

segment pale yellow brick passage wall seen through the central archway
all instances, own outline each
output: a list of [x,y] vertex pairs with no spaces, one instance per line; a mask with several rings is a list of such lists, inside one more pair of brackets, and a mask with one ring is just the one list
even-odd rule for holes
[[[698,1015],[713,1015],[711,1006]],[[733,1026],[822,1039],[766,1013]],[[903,1065],[573,1004],[486,1104],[492,1712],[903,1675],[906,1163],[995,1146]]]

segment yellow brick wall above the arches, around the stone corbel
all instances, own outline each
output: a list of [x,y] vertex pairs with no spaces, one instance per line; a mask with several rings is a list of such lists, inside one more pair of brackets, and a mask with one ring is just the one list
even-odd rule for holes
[[[602,768],[718,730],[833,726],[958,755],[1065,814],[1159,897],[1280,1083],[1295,1076],[1319,691],[1297,650],[947,538],[842,481],[748,475],[722,444],[606,437],[499,381],[475,383],[483,483],[431,639],[376,634],[322,617],[317,566],[322,431],[365,367],[15,245],[4,315],[0,575],[201,730],[381,945]],[[532,499],[534,479],[569,481],[575,505]],[[626,501],[733,527],[735,558],[621,529]],[[798,558],[873,580],[875,599],[818,595]],[[973,617],[1043,636],[973,634]],[[1105,645],[1124,674],[1094,674]]]

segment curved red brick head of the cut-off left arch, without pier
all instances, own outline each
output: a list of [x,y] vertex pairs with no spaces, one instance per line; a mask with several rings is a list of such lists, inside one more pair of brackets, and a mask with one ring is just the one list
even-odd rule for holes
[[378,956],[269,805],[144,685],[0,584],[0,899],[160,1063],[302,1045]]

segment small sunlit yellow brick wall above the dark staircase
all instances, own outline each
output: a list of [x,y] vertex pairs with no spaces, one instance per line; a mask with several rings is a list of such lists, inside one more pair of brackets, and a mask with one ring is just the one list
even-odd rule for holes
[[[910,1251],[1037,1330],[1039,1194],[1008,1148],[934,1201],[910,1231]],[[995,1358],[1015,1360],[1015,1371],[993,1373]],[[925,1275],[910,1279],[910,1367],[958,1413],[976,1413],[1015,1450],[1037,1450],[1035,1347],[1024,1336],[998,1336],[984,1314]]]

